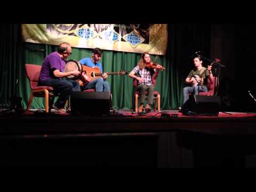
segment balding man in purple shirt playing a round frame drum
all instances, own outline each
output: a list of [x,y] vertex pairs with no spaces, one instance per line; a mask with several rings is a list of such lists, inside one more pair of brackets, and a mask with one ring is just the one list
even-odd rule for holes
[[39,76],[38,86],[52,86],[55,93],[59,93],[58,100],[52,108],[65,112],[64,106],[72,91],[80,91],[80,85],[77,81],[67,79],[69,75],[77,76],[78,70],[65,72],[65,65],[68,56],[71,54],[69,43],[61,43],[57,51],[49,54],[43,60],[41,73]]

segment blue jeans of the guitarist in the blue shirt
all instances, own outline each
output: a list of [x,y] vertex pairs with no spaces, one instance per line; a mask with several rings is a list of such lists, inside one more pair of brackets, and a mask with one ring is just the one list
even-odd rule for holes
[[103,81],[103,78],[96,78],[90,81],[87,85],[81,87],[82,90],[95,89],[96,92],[108,92],[110,87],[108,82]]

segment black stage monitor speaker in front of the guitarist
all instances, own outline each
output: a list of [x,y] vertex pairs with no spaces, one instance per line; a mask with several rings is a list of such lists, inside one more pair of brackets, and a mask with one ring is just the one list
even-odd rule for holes
[[71,114],[104,116],[112,108],[110,92],[73,92],[70,97]]

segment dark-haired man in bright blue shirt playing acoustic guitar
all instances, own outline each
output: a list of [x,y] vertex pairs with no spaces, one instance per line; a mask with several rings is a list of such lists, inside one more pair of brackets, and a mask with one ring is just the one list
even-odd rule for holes
[[[99,48],[94,48],[92,50],[92,57],[91,58],[84,58],[81,59],[79,62],[82,65],[87,67],[99,67],[100,73],[102,73],[102,65],[99,62],[102,55],[102,51]],[[96,92],[108,92],[110,91],[110,87],[108,82],[106,81],[108,75],[103,73],[100,78],[92,79],[91,77],[87,76],[85,73],[82,74],[83,79],[85,79],[85,85],[81,86],[81,90],[88,90],[88,89],[95,89]]]

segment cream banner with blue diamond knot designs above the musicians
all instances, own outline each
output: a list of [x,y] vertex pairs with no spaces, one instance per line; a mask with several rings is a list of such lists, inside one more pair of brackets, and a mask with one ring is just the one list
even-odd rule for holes
[[164,55],[167,24],[22,24],[25,42]]

